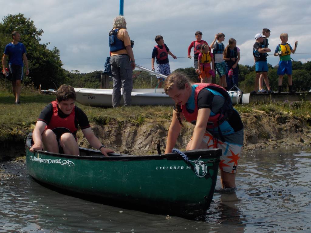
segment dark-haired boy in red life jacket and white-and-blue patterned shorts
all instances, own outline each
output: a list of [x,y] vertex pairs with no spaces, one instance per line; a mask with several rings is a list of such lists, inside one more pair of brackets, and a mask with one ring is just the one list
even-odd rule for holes
[[[171,73],[171,69],[169,67],[169,57],[168,54],[171,55],[174,59],[177,59],[177,57],[169,51],[169,48],[166,46],[163,40],[163,36],[157,35],[155,38],[155,41],[157,45],[152,50],[151,55],[151,68],[154,71],[155,67],[155,58],[156,58],[156,64],[157,69],[156,72],[168,76]],[[159,83],[159,88],[162,87],[162,81],[164,81],[164,78],[160,76],[156,76]]]

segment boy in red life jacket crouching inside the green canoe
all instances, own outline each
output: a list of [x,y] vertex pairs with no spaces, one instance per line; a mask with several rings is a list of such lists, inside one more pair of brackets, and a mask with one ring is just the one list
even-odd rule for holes
[[34,145],[30,148],[31,152],[45,150],[79,156],[76,136],[78,126],[92,147],[99,149],[105,156],[114,152],[105,148],[94,135],[86,114],[75,106],[75,101],[73,87],[61,85],[57,90],[56,100],[44,107],[39,115],[32,133]]

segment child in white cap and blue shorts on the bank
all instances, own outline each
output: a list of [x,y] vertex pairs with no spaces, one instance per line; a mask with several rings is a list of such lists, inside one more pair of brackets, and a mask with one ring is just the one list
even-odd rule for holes
[[[260,83],[260,75],[263,75],[263,79],[265,80],[265,84],[268,89],[268,93],[273,93],[270,89],[269,80],[268,80],[268,64],[267,64],[267,52],[270,52],[270,48],[264,48],[263,39],[266,36],[258,33],[255,35],[256,42],[253,47],[253,55],[255,59],[255,67],[256,67],[256,78],[255,78],[255,89],[252,91],[252,94],[256,94],[258,90],[260,93],[266,93],[266,90],[262,88],[262,83]],[[261,87],[260,87],[261,85]]]

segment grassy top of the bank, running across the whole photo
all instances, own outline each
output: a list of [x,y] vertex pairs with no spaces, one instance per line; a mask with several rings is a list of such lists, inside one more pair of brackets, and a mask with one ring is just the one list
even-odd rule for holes
[[[21,93],[21,105],[15,105],[11,86],[8,82],[0,81],[0,141],[8,139],[12,135],[18,135],[25,131],[31,131],[39,113],[49,102],[55,99],[55,95],[39,94],[31,86],[23,86]],[[119,125],[124,123],[141,124],[148,119],[169,120],[172,117],[171,106],[132,106],[121,108],[87,107],[77,103],[86,112],[90,122],[108,124],[111,119]],[[240,113],[265,112],[278,113],[303,118],[310,122],[311,104],[309,101],[284,102],[258,105],[236,105]]]

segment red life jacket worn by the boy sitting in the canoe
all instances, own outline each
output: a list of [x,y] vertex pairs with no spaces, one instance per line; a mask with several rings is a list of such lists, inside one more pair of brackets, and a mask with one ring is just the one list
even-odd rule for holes
[[44,130],[50,129],[54,130],[56,128],[65,128],[68,132],[75,133],[78,128],[75,126],[75,108],[72,109],[72,112],[69,116],[62,118],[58,116],[57,102],[51,102],[53,105],[53,115],[48,125],[45,126]]

